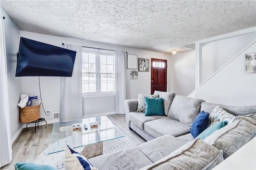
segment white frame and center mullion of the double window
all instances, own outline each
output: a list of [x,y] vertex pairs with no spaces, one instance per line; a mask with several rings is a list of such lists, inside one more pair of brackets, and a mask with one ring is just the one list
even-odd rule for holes
[[[82,93],[83,98],[87,98],[87,97],[105,97],[105,96],[114,96],[116,94],[116,77],[114,79],[114,91],[111,92],[100,92],[101,90],[101,81],[100,81],[100,77],[101,74],[112,74],[115,75],[114,73],[100,73],[100,55],[113,55],[114,56],[114,66],[115,66],[115,53],[108,53],[108,52],[97,52],[97,51],[88,51],[88,50],[82,50],[82,53],[95,53],[96,54],[96,72],[84,72],[82,71],[82,73],[86,73],[86,74],[96,74],[96,92],[88,92],[88,93]],[[83,57],[83,55],[82,55]]]

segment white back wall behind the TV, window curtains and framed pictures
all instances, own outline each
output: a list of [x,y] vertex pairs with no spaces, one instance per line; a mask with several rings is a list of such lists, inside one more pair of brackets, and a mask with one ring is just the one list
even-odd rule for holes
[[[88,40],[78,40],[72,38],[63,38],[57,36],[49,36],[44,34],[37,34],[32,32],[20,31],[20,36],[30,38],[32,40],[48,43],[63,47],[62,43],[96,47],[102,49],[111,49],[115,51],[127,51],[128,54],[138,55],[138,58],[159,58],[169,60],[170,54],[158,53],[153,51],[146,51],[134,48],[128,48],[120,45],[113,45],[107,43],[93,42]],[[139,72],[138,79],[130,79],[130,70],[127,69],[127,99],[138,98],[138,93],[150,94],[150,71]],[[170,68],[168,67],[168,73]],[[169,75],[167,75],[170,77]],[[145,79],[145,77],[147,79]],[[59,112],[60,109],[60,77],[41,77],[41,93],[42,101],[45,110],[52,112]],[[168,82],[170,79],[168,79]],[[170,85],[168,86],[170,89]],[[32,96],[39,96],[38,77],[22,77],[22,93],[27,93]],[[97,101],[98,103],[95,103]],[[96,98],[83,98],[83,115],[95,115],[98,113],[113,112],[114,111],[114,97],[96,97]],[[75,107],[75,105],[74,105]],[[72,114],[72,113],[71,113]],[[46,121],[51,121],[52,116],[46,117],[43,114],[41,107],[41,117]]]

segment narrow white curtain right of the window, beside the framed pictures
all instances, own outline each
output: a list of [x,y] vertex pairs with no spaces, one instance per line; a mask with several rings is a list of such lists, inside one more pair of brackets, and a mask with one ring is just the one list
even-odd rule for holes
[[116,114],[124,113],[124,100],[126,100],[126,52],[116,51]]

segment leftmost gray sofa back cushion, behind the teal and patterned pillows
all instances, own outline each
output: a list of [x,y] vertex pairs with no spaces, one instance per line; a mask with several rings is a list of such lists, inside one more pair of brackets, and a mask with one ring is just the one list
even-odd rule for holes
[[163,108],[164,114],[167,115],[170,105],[175,97],[175,93],[172,92],[163,92],[163,91],[154,91],[154,95],[159,95],[159,97],[163,98]]

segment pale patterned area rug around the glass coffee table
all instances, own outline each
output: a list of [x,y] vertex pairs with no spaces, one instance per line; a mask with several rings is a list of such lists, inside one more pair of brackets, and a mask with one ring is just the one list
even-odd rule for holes
[[[70,140],[69,136],[66,139],[60,140],[56,142],[56,148],[58,146],[65,145],[65,141]],[[108,154],[123,148],[127,148],[129,146],[134,146],[130,140],[126,137],[121,137],[113,140],[108,140],[103,142],[103,154]],[[82,152],[84,147],[75,148],[78,152]],[[64,170],[64,151],[56,152],[53,154],[47,154],[48,149],[44,150],[35,160],[34,163],[36,164],[46,164],[53,166],[57,169]]]

